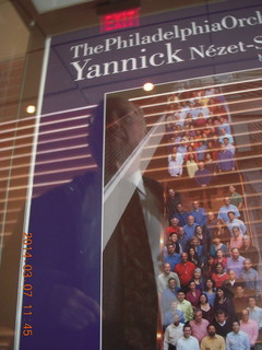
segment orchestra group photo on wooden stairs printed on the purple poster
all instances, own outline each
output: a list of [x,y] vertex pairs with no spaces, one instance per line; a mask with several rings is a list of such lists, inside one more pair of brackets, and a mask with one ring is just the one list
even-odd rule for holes
[[[248,298],[260,305],[260,86],[254,70],[160,84],[150,96],[139,89],[107,94],[105,180],[120,159],[114,144],[132,142],[141,120],[146,131],[106,180],[103,349],[166,347],[174,315],[192,320],[211,280],[214,298],[221,287],[228,293],[229,318],[241,319]],[[191,313],[182,313],[179,291]]]

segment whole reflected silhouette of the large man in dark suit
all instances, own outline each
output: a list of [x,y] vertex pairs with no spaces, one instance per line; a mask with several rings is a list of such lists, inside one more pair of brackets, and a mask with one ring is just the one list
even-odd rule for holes
[[[163,189],[141,176],[136,161],[122,176],[122,165],[136,153],[146,127],[136,106],[119,97],[108,98],[105,184],[108,188],[116,177],[121,177],[121,197],[129,195],[120,214],[119,202],[114,201],[111,217],[105,219],[102,230],[103,116],[100,104],[90,132],[97,171],[78,176],[32,202],[34,337],[23,338],[22,349],[98,350],[100,317],[103,349],[156,349],[155,276],[160,262]],[[108,233],[112,222],[116,225]]]

